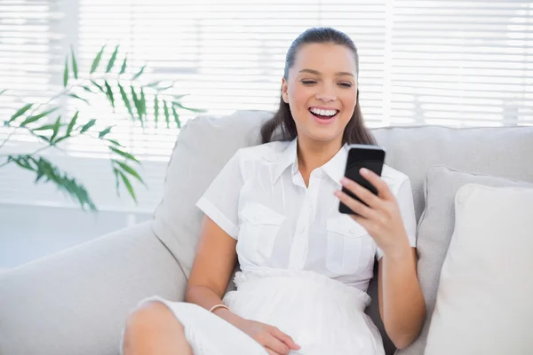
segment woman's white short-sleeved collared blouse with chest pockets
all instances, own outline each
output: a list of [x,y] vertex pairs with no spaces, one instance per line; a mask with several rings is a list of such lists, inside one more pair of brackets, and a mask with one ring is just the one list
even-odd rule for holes
[[[282,268],[320,272],[367,290],[383,252],[351,217],[338,212],[347,146],[315,169],[306,187],[297,140],[238,150],[196,206],[237,240],[243,272]],[[385,165],[382,178],[396,196],[410,245],[416,218],[410,179]]]

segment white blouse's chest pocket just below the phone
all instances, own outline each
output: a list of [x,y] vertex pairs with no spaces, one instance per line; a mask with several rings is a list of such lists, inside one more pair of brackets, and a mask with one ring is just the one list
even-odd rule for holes
[[326,267],[338,275],[363,272],[374,261],[376,244],[370,234],[351,217],[341,215],[327,221]]

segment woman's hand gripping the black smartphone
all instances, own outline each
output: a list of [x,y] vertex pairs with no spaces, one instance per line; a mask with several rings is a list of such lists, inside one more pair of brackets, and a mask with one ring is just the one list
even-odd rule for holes
[[341,180],[341,184],[368,206],[342,191],[336,191],[335,195],[357,214],[350,215],[350,217],[370,233],[370,236],[376,241],[376,244],[383,250],[385,255],[394,251],[406,250],[406,247],[409,247],[409,240],[403,225],[400,207],[394,194],[386,182],[373,171],[363,168],[360,172],[362,177],[376,187],[378,195],[371,193],[362,185],[346,177]]

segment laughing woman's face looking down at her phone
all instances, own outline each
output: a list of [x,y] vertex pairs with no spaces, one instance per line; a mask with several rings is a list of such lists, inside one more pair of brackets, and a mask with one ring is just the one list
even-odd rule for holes
[[357,99],[354,53],[338,44],[306,44],[288,76],[282,99],[290,106],[298,138],[341,144]]

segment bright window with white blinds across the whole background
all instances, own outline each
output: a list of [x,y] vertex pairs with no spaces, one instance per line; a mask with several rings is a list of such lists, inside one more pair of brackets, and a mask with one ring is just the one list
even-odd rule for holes
[[[189,94],[187,106],[210,114],[274,111],[286,50],[314,26],[338,28],[357,44],[362,111],[371,127],[533,124],[533,3],[518,0],[4,0],[0,91],[12,90],[0,96],[0,114],[59,92],[70,45],[87,72],[103,44],[103,62],[120,45],[117,62],[127,53],[129,66],[146,63],[150,81],[174,81],[173,93]],[[107,102],[93,107],[109,122],[116,117]],[[126,114],[119,107],[121,112]],[[153,209],[179,130],[116,124],[115,137],[145,162],[150,190],[139,187],[137,209]],[[0,142],[9,133],[0,128]],[[13,149],[32,144],[24,134],[13,138]],[[106,169],[100,146],[78,141],[68,152],[57,159],[66,159],[88,182],[100,208],[137,210],[129,199],[109,196],[111,170],[95,177],[93,171]],[[10,171],[14,175],[3,180],[20,181],[18,170],[3,174]],[[57,201],[53,189],[13,186],[0,185],[0,196]]]

